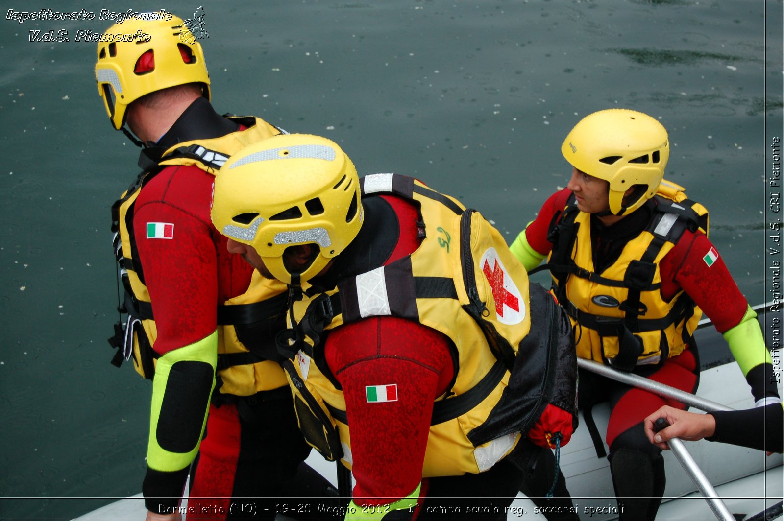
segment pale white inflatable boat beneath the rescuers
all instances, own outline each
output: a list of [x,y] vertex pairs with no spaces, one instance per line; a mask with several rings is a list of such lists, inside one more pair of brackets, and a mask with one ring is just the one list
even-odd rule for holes
[[[714,330],[706,338],[707,349],[726,345]],[[708,331],[699,331],[708,333]],[[702,340],[700,351],[702,353]],[[718,363],[718,362],[717,362]],[[782,382],[779,381],[779,395]],[[700,374],[697,396],[722,403],[733,409],[753,407],[753,398],[738,364],[734,361],[705,369]],[[607,428],[609,407],[601,403],[593,408],[593,418],[599,432]],[[584,425],[580,419],[580,425]],[[744,517],[762,512],[782,501],[782,454],[766,456],[760,450],[735,447],[726,443],[705,440],[688,442],[686,447],[702,472],[713,483],[717,493],[724,499],[730,512]],[[605,450],[607,447],[605,445]],[[664,502],[659,508],[658,519],[713,519],[713,512],[702,500],[697,487],[670,451],[664,453],[667,485]],[[325,461],[314,450],[307,459],[308,464],[323,476],[337,483],[334,462]],[[612,480],[607,458],[597,458],[593,441],[583,426],[577,429],[572,440],[561,450],[561,470],[575,502],[576,512],[583,519],[612,519],[617,517],[618,505],[612,489]],[[183,512],[187,512],[187,500],[183,501]],[[81,519],[143,519],[146,514],[141,494],[116,501],[99,508]],[[455,512],[457,516],[459,512]],[[509,519],[543,519],[535,505],[527,497],[518,495],[508,512]]]

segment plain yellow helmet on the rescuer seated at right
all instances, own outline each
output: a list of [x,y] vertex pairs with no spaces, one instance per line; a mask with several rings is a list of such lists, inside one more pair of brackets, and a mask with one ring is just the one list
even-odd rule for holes
[[[667,131],[648,114],[599,110],[583,118],[561,145],[566,161],[610,183],[610,212],[626,215],[656,194],[664,177],[670,143]],[[634,191],[624,201],[626,190]]]

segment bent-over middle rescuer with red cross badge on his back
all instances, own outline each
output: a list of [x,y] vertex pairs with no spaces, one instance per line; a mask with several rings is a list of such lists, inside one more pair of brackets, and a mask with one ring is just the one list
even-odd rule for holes
[[308,441],[356,479],[346,519],[506,519],[521,487],[573,511],[550,451],[575,427],[568,318],[478,212],[292,134],[227,161],[212,222],[289,284],[283,364]]

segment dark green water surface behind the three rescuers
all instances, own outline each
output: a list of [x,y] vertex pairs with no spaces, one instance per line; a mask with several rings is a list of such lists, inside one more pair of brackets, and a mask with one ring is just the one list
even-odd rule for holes
[[[70,518],[111,500],[52,498],[140,491],[149,385],[111,367],[105,340],[117,318],[109,208],[136,175],[137,151],[97,96],[96,44],[75,38],[111,25],[101,9],[187,18],[198,6],[2,2],[3,517]],[[778,214],[765,183],[782,136],[780,0],[204,7],[219,111],[335,139],[361,173],[416,175],[510,240],[565,185],[559,148],[579,118],[607,107],[660,118],[673,147],[666,177],[710,208],[713,242],[749,300],[771,300],[765,237]],[[42,8],[96,16],[7,19]],[[49,29],[71,40],[30,41],[28,31]]]

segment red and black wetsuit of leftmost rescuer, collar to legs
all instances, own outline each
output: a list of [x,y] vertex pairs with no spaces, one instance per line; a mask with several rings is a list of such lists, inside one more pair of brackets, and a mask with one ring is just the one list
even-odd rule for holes
[[[171,142],[172,135],[179,136],[174,143],[196,139],[200,135],[197,130],[193,136],[192,128],[212,128],[210,137],[225,130],[222,118],[209,103],[199,100],[191,109],[188,116],[192,119],[181,118],[182,123],[178,120],[162,141]],[[203,125],[194,125],[194,119]],[[234,128],[236,125],[224,133]],[[252,267],[241,256],[227,251],[226,237],[212,226],[209,213],[213,181],[213,175],[195,166],[165,167],[143,186],[133,208],[138,259],[158,332],[154,349],[161,355],[212,335],[218,327],[217,306],[249,287]],[[171,225],[171,233],[164,235],[167,238],[148,237],[150,223]],[[285,492],[290,490],[286,489],[287,481],[298,472],[310,447],[299,432],[287,386],[264,391],[264,400],[258,396],[221,395],[221,403],[228,403],[216,407],[209,404],[209,381],[201,378],[194,383],[197,379],[191,374],[181,373],[179,378],[172,378],[172,374],[165,392],[154,391],[164,394],[162,400],[153,400],[158,410],[151,412],[158,417],[154,432],[158,440],[168,440],[169,447],[182,447],[174,452],[187,453],[198,443],[208,406],[210,411],[198,465],[191,469],[189,506],[199,508],[192,509],[189,516],[227,516],[233,498],[299,494]],[[169,447],[164,448],[172,450]],[[162,472],[155,470],[156,461],[148,463],[143,484],[147,508],[172,508],[179,502],[190,465],[176,472]],[[316,481],[328,485],[320,476]],[[321,494],[318,488],[309,492]],[[274,510],[267,514],[274,516]]]

